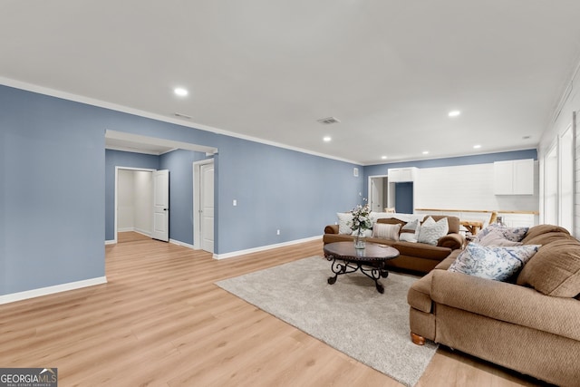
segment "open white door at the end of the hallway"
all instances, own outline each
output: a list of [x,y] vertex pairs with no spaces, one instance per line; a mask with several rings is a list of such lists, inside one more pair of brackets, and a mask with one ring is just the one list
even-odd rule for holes
[[169,242],[169,170],[153,172],[153,230],[151,237]]

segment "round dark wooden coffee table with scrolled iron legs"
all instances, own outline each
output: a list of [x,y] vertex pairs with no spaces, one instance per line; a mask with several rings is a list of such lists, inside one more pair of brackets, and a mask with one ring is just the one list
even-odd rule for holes
[[328,283],[333,285],[339,275],[361,273],[374,280],[379,293],[384,293],[384,287],[379,278],[386,278],[389,272],[385,269],[385,262],[399,256],[399,250],[386,245],[375,243],[366,244],[365,248],[354,248],[353,242],[334,242],[324,245],[324,256],[333,261],[331,266],[334,276],[328,277]]

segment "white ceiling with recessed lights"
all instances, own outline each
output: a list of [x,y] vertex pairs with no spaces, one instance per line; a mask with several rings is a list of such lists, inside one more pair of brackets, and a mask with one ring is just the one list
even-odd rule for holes
[[0,76],[362,164],[521,150],[580,60],[578,15],[578,0],[3,0]]

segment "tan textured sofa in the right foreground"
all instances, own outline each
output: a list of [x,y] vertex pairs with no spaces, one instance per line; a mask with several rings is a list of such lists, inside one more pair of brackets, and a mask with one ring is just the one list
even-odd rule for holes
[[580,385],[580,242],[531,227],[542,245],[512,282],[451,272],[453,252],[411,286],[414,343],[429,339],[562,386]]

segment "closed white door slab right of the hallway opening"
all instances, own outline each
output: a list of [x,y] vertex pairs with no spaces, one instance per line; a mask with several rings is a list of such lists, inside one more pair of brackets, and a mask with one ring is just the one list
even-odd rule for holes
[[214,163],[200,168],[201,249],[214,252]]

